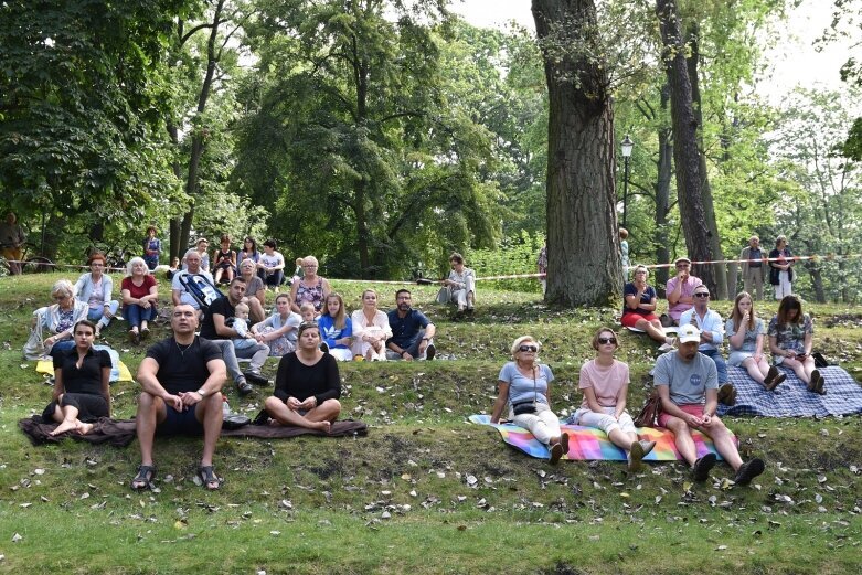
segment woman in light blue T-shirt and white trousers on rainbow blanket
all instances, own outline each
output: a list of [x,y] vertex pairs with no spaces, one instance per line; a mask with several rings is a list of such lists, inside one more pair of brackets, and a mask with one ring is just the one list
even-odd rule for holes
[[539,342],[532,336],[514,340],[511,352],[514,361],[500,370],[491,423],[500,420],[508,403],[509,419],[545,444],[551,450],[551,462],[556,464],[568,452],[568,435],[560,433],[560,419],[551,411],[550,385],[554,374],[551,368],[539,363]]

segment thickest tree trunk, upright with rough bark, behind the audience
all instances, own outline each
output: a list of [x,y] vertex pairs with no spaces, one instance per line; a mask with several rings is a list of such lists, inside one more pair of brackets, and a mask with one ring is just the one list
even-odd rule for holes
[[622,284],[614,110],[607,68],[577,53],[597,34],[596,9],[592,0],[533,0],[532,10],[550,104],[545,299],[609,305]]

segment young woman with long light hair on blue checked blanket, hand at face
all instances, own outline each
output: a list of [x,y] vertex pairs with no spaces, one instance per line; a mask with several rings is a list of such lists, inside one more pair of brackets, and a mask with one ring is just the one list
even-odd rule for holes
[[762,383],[766,391],[775,390],[787,375],[775,365],[769,366],[764,358],[764,334],[766,328],[754,312],[754,300],[747,291],[742,291],[733,302],[733,312],[724,324],[724,332],[731,343],[731,356],[727,363],[745,368],[748,375]]

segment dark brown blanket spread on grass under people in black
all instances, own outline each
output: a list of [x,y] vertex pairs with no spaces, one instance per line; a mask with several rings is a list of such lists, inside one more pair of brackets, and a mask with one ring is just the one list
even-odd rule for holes
[[[78,441],[89,444],[110,444],[115,447],[126,447],[135,439],[135,419],[109,419],[100,418],[93,424],[93,430],[87,435],[75,435],[66,433],[60,436],[52,436],[51,432],[56,429],[54,422],[44,423],[41,415],[26,417],[18,422],[18,427],[24,432],[33,445],[47,443],[57,444],[66,437]],[[246,425],[240,429],[222,429],[222,437],[262,437],[265,439],[280,439],[296,437],[298,435],[318,435],[323,437],[340,437],[352,435],[366,435],[368,425],[362,422],[347,419],[332,424],[329,435],[304,427],[281,427],[272,425]]]

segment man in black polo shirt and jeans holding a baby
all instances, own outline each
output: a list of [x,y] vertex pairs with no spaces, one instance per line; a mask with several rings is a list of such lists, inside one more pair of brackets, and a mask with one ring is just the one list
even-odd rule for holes
[[[243,395],[252,392],[252,386],[246,382],[246,379],[258,385],[269,385],[269,380],[260,374],[260,368],[269,356],[269,345],[259,340],[262,336],[255,337],[249,332],[248,337],[253,340],[257,339],[257,341],[254,345],[244,348],[236,348],[232,341],[240,338],[240,334],[230,326],[228,320],[236,315],[236,305],[243,300],[244,296],[245,279],[242,277],[233,278],[227,289],[227,297],[213,301],[204,311],[201,322],[201,337],[222,349],[227,373],[236,382],[236,387]],[[240,371],[237,358],[251,359],[251,368],[245,372]]]

